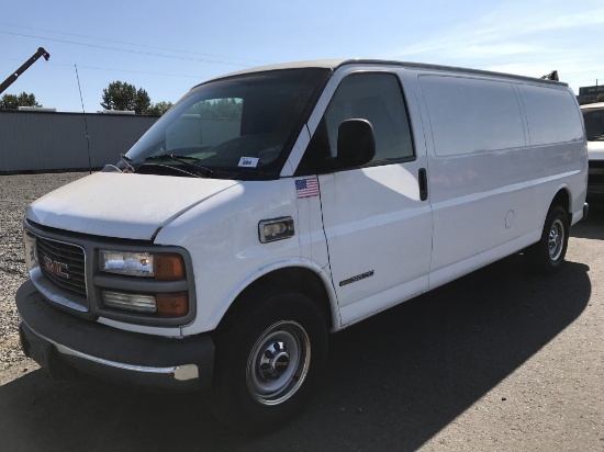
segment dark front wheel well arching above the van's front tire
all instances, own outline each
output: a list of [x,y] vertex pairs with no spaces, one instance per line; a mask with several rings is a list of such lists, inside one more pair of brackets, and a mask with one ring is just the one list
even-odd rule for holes
[[216,329],[227,325],[232,318],[245,314],[250,307],[249,302],[258,300],[254,295],[266,293],[270,287],[290,289],[304,294],[318,306],[327,329],[332,328],[332,307],[323,281],[312,270],[291,267],[267,273],[248,285],[228,307]]

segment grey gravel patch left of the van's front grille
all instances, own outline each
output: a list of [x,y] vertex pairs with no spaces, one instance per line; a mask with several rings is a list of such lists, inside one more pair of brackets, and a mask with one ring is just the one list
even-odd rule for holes
[[14,293],[27,278],[23,214],[27,205],[87,172],[0,176],[0,371],[25,360],[19,346]]

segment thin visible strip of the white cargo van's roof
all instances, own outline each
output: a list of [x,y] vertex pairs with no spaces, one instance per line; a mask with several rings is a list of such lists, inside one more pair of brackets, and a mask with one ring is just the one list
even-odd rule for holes
[[466,74],[476,74],[476,75],[489,75],[504,78],[512,78],[518,80],[528,80],[532,82],[538,81],[544,83],[553,83],[568,87],[568,83],[553,80],[544,80],[537,77],[527,77],[527,76],[516,76],[514,74],[504,74],[504,72],[494,72],[480,69],[470,69],[470,68],[460,68],[452,66],[443,66],[443,65],[432,65],[424,63],[410,63],[410,61],[395,61],[395,60],[382,60],[382,59],[315,59],[306,61],[292,61],[292,63],[282,63],[277,65],[268,66],[258,66],[248,69],[238,70],[235,72],[225,74],[223,76],[213,78],[212,80],[223,79],[233,76],[239,76],[244,74],[254,74],[262,72],[268,70],[282,70],[282,69],[301,69],[301,68],[324,68],[336,70],[338,67],[344,65],[384,65],[384,66],[401,66],[405,68],[416,68],[416,69],[432,69],[432,70],[443,70],[448,72],[466,72]]

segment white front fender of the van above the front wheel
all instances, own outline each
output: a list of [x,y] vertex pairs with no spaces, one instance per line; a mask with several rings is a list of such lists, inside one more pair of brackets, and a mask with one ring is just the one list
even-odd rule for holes
[[[186,248],[194,269],[198,315],[183,334],[214,329],[237,295],[270,271],[306,268],[328,281],[323,272],[327,265],[325,239],[316,239],[312,231],[317,222],[312,213],[320,212],[318,196],[297,200],[294,178],[246,181],[164,227],[155,242]],[[258,223],[283,216],[293,219],[297,235],[261,244]]]

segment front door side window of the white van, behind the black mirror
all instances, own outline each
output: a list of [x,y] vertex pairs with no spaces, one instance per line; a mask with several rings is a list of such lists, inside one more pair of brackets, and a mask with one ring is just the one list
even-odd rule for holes
[[351,118],[367,120],[376,134],[373,162],[387,163],[414,157],[411,128],[399,79],[393,74],[363,72],[346,77],[337,88],[299,167],[313,173],[321,160],[337,154],[339,125]]

